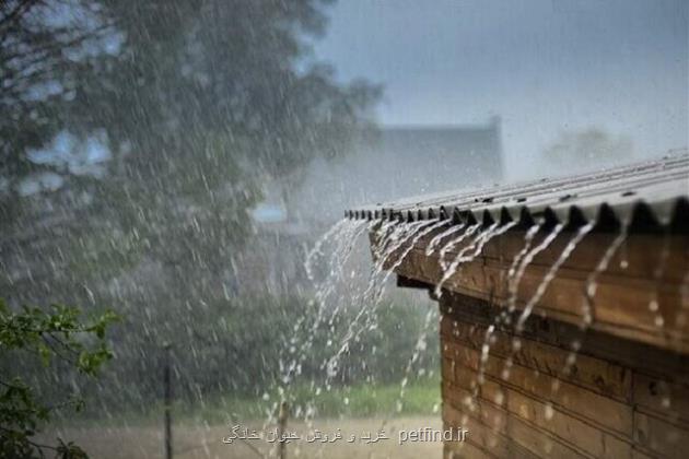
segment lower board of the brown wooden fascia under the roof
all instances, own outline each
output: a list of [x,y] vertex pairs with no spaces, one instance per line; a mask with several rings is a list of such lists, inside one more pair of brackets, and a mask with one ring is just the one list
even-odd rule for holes
[[[509,295],[503,280],[507,267],[494,267],[468,263],[458,270],[445,287],[465,295],[479,297],[499,305],[506,305]],[[437,261],[423,252],[412,251],[396,271],[398,274],[435,284],[441,278]],[[528,268],[519,283],[517,308],[522,309],[530,301],[541,283],[546,270],[540,267]],[[568,276],[560,270],[551,281],[534,314],[564,320],[576,326],[583,321],[586,280]],[[689,353],[689,320],[679,306],[681,291],[679,284],[659,285],[657,289],[658,310],[651,310],[650,304],[655,298],[655,283],[643,280],[611,279],[603,274],[592,308],[594,329],[611,332],[622,338],[650,342],[667,349]],[[656,320],[662,320],[658,327]]]

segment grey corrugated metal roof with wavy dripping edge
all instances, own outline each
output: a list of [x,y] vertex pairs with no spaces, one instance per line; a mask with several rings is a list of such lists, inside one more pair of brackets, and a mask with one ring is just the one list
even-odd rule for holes
[[349,219],[661,226],[689,233],[689,152],[560,178],[455,190],[344,212]]

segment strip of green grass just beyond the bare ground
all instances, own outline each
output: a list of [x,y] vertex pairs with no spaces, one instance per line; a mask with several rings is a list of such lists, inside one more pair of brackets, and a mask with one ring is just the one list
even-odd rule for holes
[[[437,412],[440,405],[440,380],[423,378],[410,382],[405,389],[402,399],[399,384],[355,385],[322,390],[315,396],[307,385],[291,388],[288,400],[292,410],[302,410],[312,404],[317,417],[375,417],[402,415],[430,415]],[[173,404],[173,419],[179,424],[208,423],[223,424],[234,421],[264,420],[268,411],[278,401],[277,393],[264,400],[262,397],[237,397],[232,395],[214,395],[202,402],[176,401]],[[400,403],[401,402],[401,403]],[[293,412],[294,415],[294,412]],[[69,419],[63,425],[150,425],[160,423],[163,417],[163,404],[157,402],[145,412],[124,412],[107,419]]]

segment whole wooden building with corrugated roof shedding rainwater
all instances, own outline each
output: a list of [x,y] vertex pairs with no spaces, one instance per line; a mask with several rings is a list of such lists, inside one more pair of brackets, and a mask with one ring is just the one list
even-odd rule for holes
[[446,458],[689,457],[688,196],[678,154],[347,213],[439,301]]

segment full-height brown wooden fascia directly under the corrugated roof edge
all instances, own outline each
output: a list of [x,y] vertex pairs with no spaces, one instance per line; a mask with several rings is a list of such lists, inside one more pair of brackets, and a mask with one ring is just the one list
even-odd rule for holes
[[[506,272],[514,254],[524,245],[523,236],[519,232],[507,232],[490,240],[480,257],[464,264],[448,280],[447,289],[504,305],[507,301]],[[534,295],[571,236],[562,234],[527,267],[519,284],[518,307],[523,307]],[[398,274],[431,285],[440,281],[439,250],[430,257],[424,254],[431,237],[418,243],[397,268]],[[535,313],[574,325],[582,323],[586,278],[611,238],[612,235],[606,234],[588,235],[563,263]],[[665,244],[667,251],[663,250]],[[593,328],[689,353],[689,316],[681,308],[680,292],[682,279],[689,270],[688,247],[686,235],[631,235],[611,260],[609,269],[598,278]],[[457,247],[454,254],[460,248]],[[448,259],[452,258],[451,252]],[[662,269],[658,270],[658,267]],[[655,298],[658,301],[657,309],[650,306]]]

